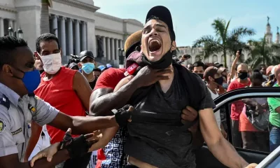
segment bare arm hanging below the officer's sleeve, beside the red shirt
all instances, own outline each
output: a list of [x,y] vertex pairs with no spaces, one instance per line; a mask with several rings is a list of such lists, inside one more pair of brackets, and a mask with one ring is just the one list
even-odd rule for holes
[[38,139],[41,136],[42,127],[34,122],[34,120],[31,121],[31,137],[28,141],[27,150],[25,151],[25,161],[28,161],[29,156],[31,155],[32,151],[34,150]]

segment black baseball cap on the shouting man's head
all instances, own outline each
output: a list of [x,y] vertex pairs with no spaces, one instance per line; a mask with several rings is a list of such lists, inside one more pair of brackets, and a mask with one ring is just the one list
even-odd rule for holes
[[148,14],[146,16],[146,22],[148,22],[149,19],[152,18],[153,16],[155,16],[162,22],[165,22],[165,24],[168,26],[168,29],[174,36],[174,39],[172,39],[172,40],[175,41],[176,36],[175,36],[174,28],[173,28],[172,15],[171,15],[169,9],[165,6],[155,6],[155,7],[151,8],[148,11]]

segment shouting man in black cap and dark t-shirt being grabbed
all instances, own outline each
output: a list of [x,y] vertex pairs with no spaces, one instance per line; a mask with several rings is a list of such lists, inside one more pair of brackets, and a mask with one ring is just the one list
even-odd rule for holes
[[[146,66],[138,73],[147,69],[171,72],[167,80],[146,83],[146,87],[136,90],[129,100],[134,106],[125,144],[130,164],[134,167],[195,167],[192,134],[185,129],[192,123],[181,125],[181,110],[193,106],[199,113],[204,140],[220,162],[228,167],[255,167],[248,165],[224,139],[207,86],[195,73],[172,63],[173,50],[176,50],[176,42],[171,14],[164,6],[155,6],[148,12],[142,32],[142,62]],[[120,80],[114,91],[124,92],[123,87],[141,83],[138,73]]]

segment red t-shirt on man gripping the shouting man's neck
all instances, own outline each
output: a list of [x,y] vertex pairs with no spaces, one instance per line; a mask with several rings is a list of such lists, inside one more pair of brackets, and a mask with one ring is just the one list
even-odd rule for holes
[[[94,87],[94,90],[100,88],[111,88],[114,90],[115,87],[120,82],[120,80],[125,78],[124,73],[125,73],[125,69],[114,69],[114,68],[107,69],[97,79],[97,83]],[[118,142],[118,143],[123,143],[123,142]],[[103,148],[101,148],[97,151],[97,165],[95,166],[95,168],[100,168],[103,160],[106,160],[106,156],[104,155]]]

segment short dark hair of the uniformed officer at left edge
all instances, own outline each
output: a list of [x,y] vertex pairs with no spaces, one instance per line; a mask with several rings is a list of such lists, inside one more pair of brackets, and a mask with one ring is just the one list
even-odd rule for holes
[[0,71],[4,64],[15,62],[15,55],[11,51],[19,47],[28,47],[27,42],[22,38],[13,36],[0,37]]

